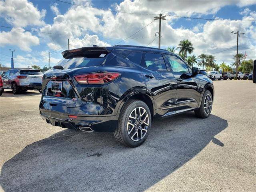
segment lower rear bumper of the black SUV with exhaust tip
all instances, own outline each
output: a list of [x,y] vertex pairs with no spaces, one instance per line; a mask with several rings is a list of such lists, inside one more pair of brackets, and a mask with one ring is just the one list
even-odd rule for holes
[[79,127],[89,127],[96,132],[113,132],[118,124],[117,116],[77,116],[70,118],[68,115],[52,110],[40,109],[40,115],[52,126],[79,130]]

